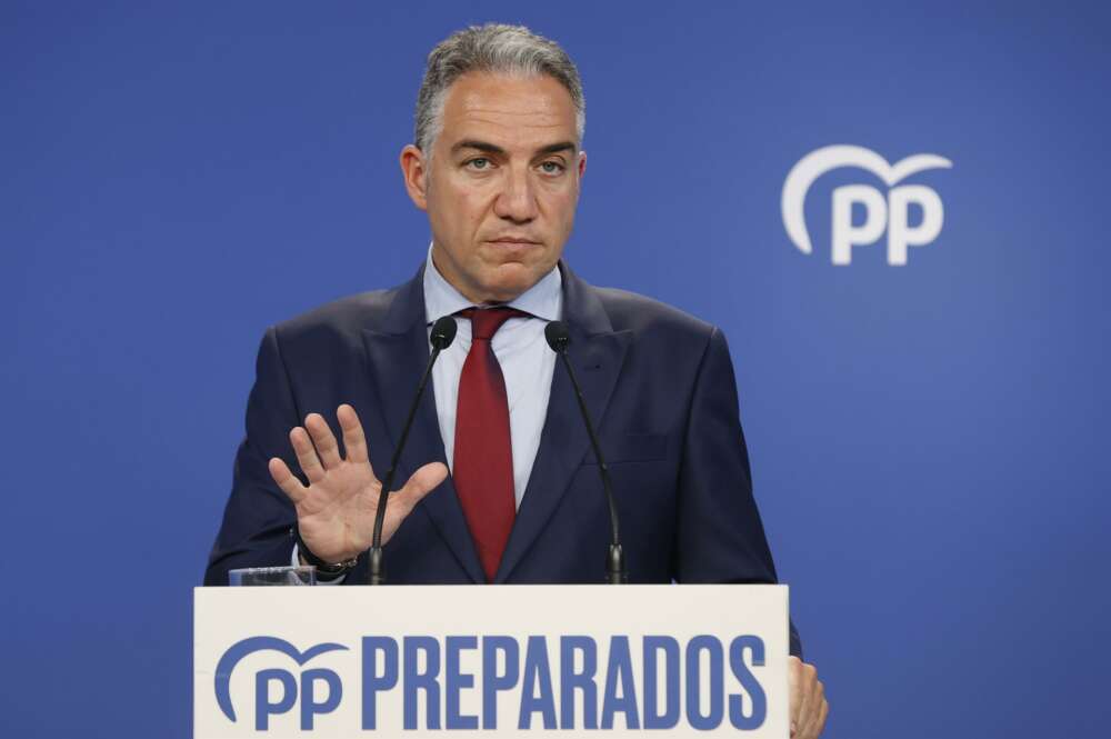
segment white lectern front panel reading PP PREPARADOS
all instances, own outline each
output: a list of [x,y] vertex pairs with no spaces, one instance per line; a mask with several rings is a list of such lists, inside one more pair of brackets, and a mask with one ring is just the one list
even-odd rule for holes
[[788,739],[785,586],[194,590],[193,736]]

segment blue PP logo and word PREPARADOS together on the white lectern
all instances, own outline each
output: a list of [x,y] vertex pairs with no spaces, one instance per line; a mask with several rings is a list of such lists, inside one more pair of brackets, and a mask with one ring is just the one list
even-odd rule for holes
[[[244,693],[243,700],[252,687],[256,731],[270,730],[273,717],[293,713],[298,705],[300,729],[311,731],[313,720],[323,713],[336,716],[321,725],[353,720],[349,710],[353,707],[340,707],[348,680],[358,686],[349,702],[359,705],[362,731],[389,732],[397,727],[428,736],[473,733],[479,728],[497,731],[501,726],[519,732],[559,729],[570,736],[568,731],[579,729],[621,730],[622,722],[629,731],[680,727],[693,732],[728,727],[753,731],[768,718],[768,692],[761,681],[765,647],[757,635],[722,639],[659,633],[599,638],[413,633],[368,635],[361,642],[359,665],[353,663],[353,653],[337,655],[340,672],[336,672],[304,666],[327,652],[347,652],[342,645],[321,643],[301,652],[277,637],[238,641],[218,660],[217,705],[234,722],[232,692]],[[256,670],[253,686],[243,679],[246,675],[233,680],[236,666],[258,652],[264,658],[250,662]],[[300,675],[276,667],[289,660],[300,666]],[[575,693],[582,697],[581,706]],[[291,728],[294,717],[273,721],[274,728]]]

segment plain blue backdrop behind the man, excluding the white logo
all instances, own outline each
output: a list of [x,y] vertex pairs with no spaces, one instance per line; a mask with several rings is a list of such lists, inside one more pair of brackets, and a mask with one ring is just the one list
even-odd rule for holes
[[[487,20],[582,72],[574,269],[730,339],[827,736],[1105,729],[1107,6],[394,4],[0,7],[0,733],[190,736],[259,338],[413,272],[424,54]],[[791,243],[835,143],[952,161],[907,266],[831,262],[855,168]]]

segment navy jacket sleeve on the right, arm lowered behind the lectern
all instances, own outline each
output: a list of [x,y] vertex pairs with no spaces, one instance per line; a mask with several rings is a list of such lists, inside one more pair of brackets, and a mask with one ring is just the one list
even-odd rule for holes
[[[752,497],[752,475],[725,338],[710,333],[694,380],[679,473],[675,579],[777,582]],[[791,653],[802,646],[791,625]]]

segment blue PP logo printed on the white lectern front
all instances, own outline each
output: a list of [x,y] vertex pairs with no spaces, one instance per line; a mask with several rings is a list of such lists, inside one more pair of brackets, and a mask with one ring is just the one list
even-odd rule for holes
[[[251,637],[232,645],[220,658],[216,668],[216,701],[228,720],[236,721],[236,709],[231,705],[231,673],[248,655],[258,651],[278,651],[303,666],[314,657],[330,651],[347,650],[343,645],[322,643],[303,652],[284,639],[277,637]],[[271,686],[280,688],[280,697],[270,699]],[[270,728],[270,717],[289,712],[301,699],[301,730],[310,731],[313,719],[320,713],[334,711],[343,698],[343,685],[333,670],[314,668],[302,670],[300,680],[289,670],[270,668],[254,675],[254,728],[266,731]]]

